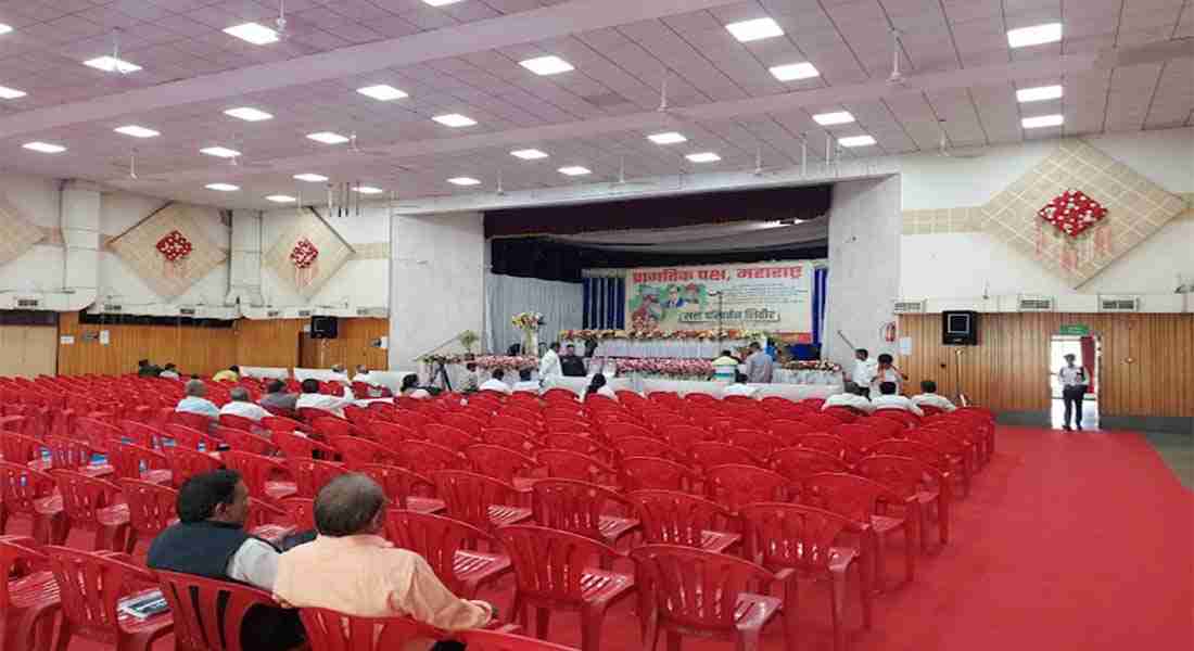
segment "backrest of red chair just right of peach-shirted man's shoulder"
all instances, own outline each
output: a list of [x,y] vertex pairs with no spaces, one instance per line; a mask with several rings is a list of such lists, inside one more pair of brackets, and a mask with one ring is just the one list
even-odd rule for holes
[[386,538],[426,559],[439,581],[455,594],[464,591],[456,578],[456,552],[475,548],[478,540],[486,541],[491,547],[496,543],[492,535],[472,524],[401,509],[386,512]]

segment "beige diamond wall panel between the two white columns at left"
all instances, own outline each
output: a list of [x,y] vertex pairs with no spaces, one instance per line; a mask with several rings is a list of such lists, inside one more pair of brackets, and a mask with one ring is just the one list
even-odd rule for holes
[[[186,291],[204,276],[228,259],[228,253],[208,239],[195,217],[210,209],[171,203],[109,244],[124,264],[129,265],[164,301]],[[158,242],[178,232],[191,244],[184,259],[171,263],[158,250]]]

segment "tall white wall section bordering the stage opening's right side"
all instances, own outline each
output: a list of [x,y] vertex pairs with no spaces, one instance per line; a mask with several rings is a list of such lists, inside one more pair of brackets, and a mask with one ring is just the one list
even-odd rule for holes
[[880,328],[891,321],[900,268],[900,179],[850,180],[833,186],[829,215],[829,296],[821,356],[848,364],[855,346],[891,352]]

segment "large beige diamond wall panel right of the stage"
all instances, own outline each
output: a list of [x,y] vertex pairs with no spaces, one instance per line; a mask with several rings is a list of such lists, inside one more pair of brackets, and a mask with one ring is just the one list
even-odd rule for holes
[[[1107,216],[1077,241],[1054,228],[1041,228],[1038,210],[1069,188],[1097,192]],[[1076,139],[996,195],[983,207],[983,231],[1038,259],[1077,288],[1186,210],[1186,202],[1128,166]],[[1106,229],[1106,231],[1104,231]],[[1075,247],[1078,247],[1077,254]]]

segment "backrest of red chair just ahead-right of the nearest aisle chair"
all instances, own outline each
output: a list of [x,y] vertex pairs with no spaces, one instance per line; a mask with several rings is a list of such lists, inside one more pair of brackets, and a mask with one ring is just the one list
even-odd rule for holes
[[801,504],[763,502],[741,512],[746,558],[767,567],[826,570],[849,518]]

